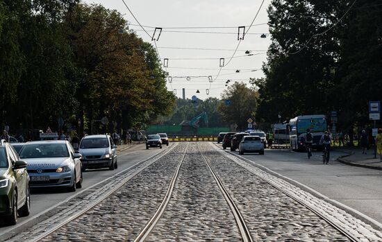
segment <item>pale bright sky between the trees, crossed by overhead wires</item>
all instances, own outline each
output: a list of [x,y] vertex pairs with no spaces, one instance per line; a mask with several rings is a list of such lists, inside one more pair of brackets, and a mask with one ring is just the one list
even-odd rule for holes
[[[200,99],[209,96],[220,98],[223,90],[226,89],[227,80],[231,80],[230,84],[239,81],[249,85],[249,78],[264,76],[261,67],[266,61],[265,52],[270,44],[270,37],[267,35],[267,38],[260,38],[260,35],[269,33],[266,23],[267,8],[271,0],[264,1],[254,26],[251,26],[239,46],[238,26],[247,26],[245,31],[248,31],[262,0],[124,1],[140,24],[147,26],[144,28],[149,35],[153,35],[156,27],[163,28],[156,45],[162,62],[165,62],[165,58],[168,59],[167,72],[169,76],[172,76],[172,83],[167,82],[167,89],[176,89],[176,96],[182,97],[182,88],[185,88],[186,98],[191,98],[193,95]],[[133,24],[131,28],[144,41],[151,42],[155,46],[151,37],[138,26],[122,0],[85,0],[84,2],[99,3],[106,8],[122,12],[125,19]],[[183,33],[185,31],[208,33]],[[237,47],[235,57],[229,62]],[[247,50],[251,51],[250,56],[245,54]],[[224,58],[224,67],[217,76],[220,58]],[[188,76],[190,78],[187,78]],[[212,76],[213,83],[209,83],[208,76]],[[196,93],[197,89],[199,94]],[[208,95],[206,89],[209,90]]]

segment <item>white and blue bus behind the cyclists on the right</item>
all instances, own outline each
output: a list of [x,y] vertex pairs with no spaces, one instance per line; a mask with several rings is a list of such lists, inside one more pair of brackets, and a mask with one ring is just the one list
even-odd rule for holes
[[319,139],[326,131],[325,115],[297,116],[289,121],[289,137],[292,150],[304,148],[306,129],[310,129],[313,135],[313,148],[319,148]]

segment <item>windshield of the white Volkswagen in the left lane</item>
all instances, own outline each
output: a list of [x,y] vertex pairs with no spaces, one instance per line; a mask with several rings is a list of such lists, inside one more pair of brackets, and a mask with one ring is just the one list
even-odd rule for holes
[[69,157],[66,144],[26,144],[20,152],[21,159]]

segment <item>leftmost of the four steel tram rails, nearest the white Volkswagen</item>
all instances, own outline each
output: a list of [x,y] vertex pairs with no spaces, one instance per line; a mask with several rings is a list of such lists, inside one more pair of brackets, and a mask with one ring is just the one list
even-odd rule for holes
[[[162,158],[163,156],[167,155],[168,153],[170,153],[172,150],[174,150],[174,148],[178,146],[178,145],[174,145],[172,147],[169,148],[169,150],[166,150],[165,152],[163,153],[159,153],[156,154],[156,155],[152,155],[151,157],[147,158],[147,159],[143,159],[142,161],[138,162],[138,164],[135,164],[134,166],[138,166],[144,162],[147,162],[149,160],[152,160],[152,159],[155,159],[155,160],[158,160],[160,158]],[[131,166],[133,167],[133,166]],[[126,168],[124,171],[128,171],[129,169],[131,169],[131,167],[129,168]],[[147,167],[144,167],[144,168],[141,168],[140,171],[138,171],[135,175],[138,175],[140,172],[142,172],[145,168]],[[120,173],[122,173],[123,171],[117,173],[116,175],[119,175]],[[117,191],[117,189],[121,188],[124,184],[126,184],[126,182],[128,182],[129,180],[131,180],[132,178],[135,177],[135,175],[131,178],[128,178],[128,179],[124,179],[122,180],[121,184],[118,184],[116,187],[114,187],[113,189],[109,190],[108,193],[106,194],[106,196],[103,196],[103,198],[97,200],[96,202],[94,202],[90,207],[88,207],[87,209],[84,209],[82,211],[80,211],[78,214],[75,214],[74,216],[71,216],[69,218],[67,218],[65,221],[59,223],[58,225],[56,225],[55,227],[51,228],[50,230],[47,230],[46,232],[40,234],[37,238],[31,240],[33,242],[37,242],[37,241],[40,241],[41,239],[44,239],[44,237],[47,237],[49,236],[50,234],[53,234],[54,232],[56,232],[57,230],[59,230],[61,227],[67,225],[68,223],[74,221],[76,218],[79,218],[80,216],[82,216],[83,214],[85,214],[87,211],[89,211],[90,209],[92,209],[93,207],[99,205],[100,202],[102,202],[103,200],[105,200],[106,198],[108,198],[111,194],[113,194],[115,191]],[[115,176],[115,175],[114,175]],[[28,240],[29,241],[29,240]]]

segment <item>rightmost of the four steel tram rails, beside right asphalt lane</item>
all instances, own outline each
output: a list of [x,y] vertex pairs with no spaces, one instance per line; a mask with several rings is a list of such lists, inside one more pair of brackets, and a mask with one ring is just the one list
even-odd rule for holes
[[[221,150],[219,147],[215,146],[216,148],[218,148],[219,150]],[[249,162],[253,162],[251,161],[250,159],[246,159],[244,157],[241,157],[240,155],[236,154],[236,153],[233,153],[232,151],[229,151],[229,150],[226,150],[226,153],[229,153],[231,155],[234,155],[235,157],[238,157],[239,159],[241,159],[242,161],[244,162],[247,162],[247,164]],[[233,162],[235,162],[233,160]],[[240,164],[239,164],[240,165]],[[241,165],[240,165],[241,166]],[[244,166],[242,166],[242,168],[245,168]],[[245,168],[247,171],[249,171],[250,173],[256,175],[254,172],[250,171],[249,169]],[[269,182],[269,180],[265,179],[265,178],[262,178],[258,175],[256,175],[258,178],[264,180],[265,182],[267,182],[267,184],[271,185],[272,187],[274,187],[275,189],[281,191],[282,193],[284,193],[286,196],[288,196],[289,198],[292,198],[293,200],[295,200],[296,202],[299,202],[301,205],[303,205],[304,207],[306,207],[307,209],[309,209],[310,211],[312,211],[313,213],[315,213],[317,216],[319,216],[319,218],[322,218],[324,221],[326,221],[326,223],[329,223],[329,225],[331,225],[332,227],[335,228],[335,230],[338,230],[338,232],[340,232],[341,234],[343,234],[344,236],[347,237],[347,239],[349,239],[350,241],[353,241],[353,242],[361,242],[360,239],[358,239],[358,237],[354,234],[351,234],[351,232],[345,230],[343,227],[341,227],[340,225],[338,225],[337,223],[331,221],[330,218],[327,218],[324,214],[320,213],[319,211],[317,211],[317,209],[315,209],[313,206],[310,206],[308,205],[307,202],[304,202],[304,200],[302,199],[299,199],[299,198],[296,198],[294,196],[292,196],[290,193],[288,193],[288,191],[285,191],[285,189],[282,189],[280,187],[277,187],[276,184],[273,184],[272,182]]]

